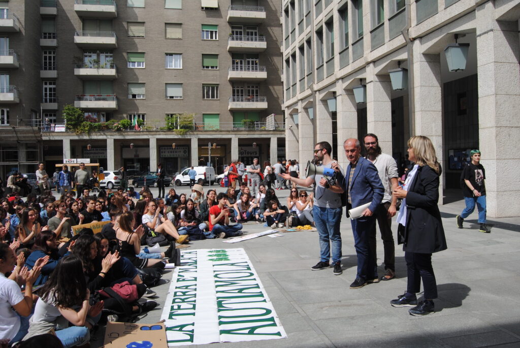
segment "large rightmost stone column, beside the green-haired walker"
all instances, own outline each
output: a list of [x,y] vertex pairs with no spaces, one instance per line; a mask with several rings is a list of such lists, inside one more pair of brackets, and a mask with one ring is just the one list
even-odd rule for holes
[[518,22],[495,21],[493,3],[477,7],[478,128],[486,169],[488,217],[518,216],[520,71]]

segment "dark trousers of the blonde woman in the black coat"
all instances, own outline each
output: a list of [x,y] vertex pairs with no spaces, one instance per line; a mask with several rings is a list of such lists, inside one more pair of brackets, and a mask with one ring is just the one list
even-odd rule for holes
[[432,254],[420,254],[405,252],[406,266],[408,268],[409,293],[421,291],[421,279],[424,287],[424,299],[433,300],[437,298],[437,282],[433,273]]

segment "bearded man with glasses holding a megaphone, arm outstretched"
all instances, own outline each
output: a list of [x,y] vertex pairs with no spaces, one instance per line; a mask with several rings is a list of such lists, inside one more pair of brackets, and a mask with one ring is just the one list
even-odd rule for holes
[[[330,154],[332,146],[327,141],[321,141],[314,146],[315,163],[321,162],[318,166],[332,168],[341,178],[344,177],[343,170],[337,162],[332,161]],[[334,265],[334,275],[343,273],[341,268],[341,233],[340,223],[342,215],[341,194],[343,194],[342,184],[335,181],[332,185],[323,175],[310,175],[305,179],[292,177],[285,173],[280,174],[285,180],[291,180],[296,185],[310,187],[316,185],[314,194],[313,216],[314,223],[318,229],[320,238],[320,261],[312,270],[319,270],[330,267],[331,245],[332,245],[332,264]]]

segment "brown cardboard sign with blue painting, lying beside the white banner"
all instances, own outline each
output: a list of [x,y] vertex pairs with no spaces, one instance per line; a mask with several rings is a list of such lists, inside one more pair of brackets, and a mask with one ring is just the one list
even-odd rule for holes
[[105,346],[118,348],[167,348],[163,323],[107,323]]

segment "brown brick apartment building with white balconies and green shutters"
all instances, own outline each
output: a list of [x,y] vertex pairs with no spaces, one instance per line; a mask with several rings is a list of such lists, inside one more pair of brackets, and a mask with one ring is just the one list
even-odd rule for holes
[[[279,0],[6,4],[20,13],[31,8],[35,17],[17,42],[34,50],[33,62],[12,71],[31,81],[22,85],[33,90],[18,87],[16,98],[20,107],[30,100],[35,114],[29,105],[16,114],[40,126],[47,166],[83,158],[107,170],[155,170],[162,162],[175,172],[206,164],[208,147],[217,168],[236,158],[285,156]],[[71,132],[66,105],[80,108],[94,131]],[[133,126],[114,128],[124,119]]]

